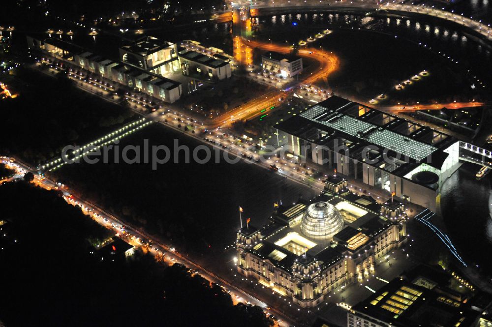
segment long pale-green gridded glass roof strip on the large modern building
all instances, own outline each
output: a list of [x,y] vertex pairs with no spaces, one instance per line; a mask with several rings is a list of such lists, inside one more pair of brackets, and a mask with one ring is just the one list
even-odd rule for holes
[[[338,108],[338,110],[354,104],[356,103],[349,102]],[[437,150],[437,148],[429,144],[408,138],[370,122],[345,115],[338,112],[338,110],[330,110],[323,106],[315,105],[300,114],[300,116],[340,132],[356,136],[376,146],[396,151],[415,160],[422,160]]]

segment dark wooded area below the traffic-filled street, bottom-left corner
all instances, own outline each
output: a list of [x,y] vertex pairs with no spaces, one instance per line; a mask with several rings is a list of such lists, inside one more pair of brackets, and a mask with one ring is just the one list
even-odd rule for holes
[[99,261],[93,245],[112,233],[55,191],[11,182],[0,198],[8,221],[0,238],[6,326],[272,325],[261,308],[234,305],[184,266],[166,267],[140,251]]

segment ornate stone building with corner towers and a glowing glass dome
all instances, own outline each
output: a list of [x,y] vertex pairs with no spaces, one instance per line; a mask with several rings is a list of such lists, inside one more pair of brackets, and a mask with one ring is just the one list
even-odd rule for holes
[[280,205],[266,226],[238,231],[238,272],[314,307],[337,288],[377,274],[375,261],[406,241],[403,211],[382,212],[374,199],[331,176],[318,197]]

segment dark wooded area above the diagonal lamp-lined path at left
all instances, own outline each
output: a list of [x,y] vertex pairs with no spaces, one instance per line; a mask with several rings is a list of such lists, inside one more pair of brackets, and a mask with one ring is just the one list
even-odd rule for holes
[[108,103],[76,89],[59,74],[51,78],[18,69],[25,83],[16,98],[2,101],[0,149],[39,164],[59,155],[69,144],[82,144],[129,121],[129,108]]

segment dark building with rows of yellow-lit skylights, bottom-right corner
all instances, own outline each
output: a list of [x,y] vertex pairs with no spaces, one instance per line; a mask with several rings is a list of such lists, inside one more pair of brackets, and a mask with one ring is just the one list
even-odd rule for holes
[[490,295],[468,291],[441,267],[419,266],[354,305],[347,327],[487,326]]

